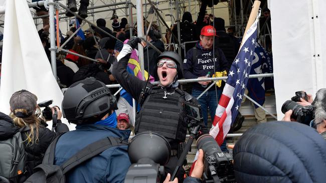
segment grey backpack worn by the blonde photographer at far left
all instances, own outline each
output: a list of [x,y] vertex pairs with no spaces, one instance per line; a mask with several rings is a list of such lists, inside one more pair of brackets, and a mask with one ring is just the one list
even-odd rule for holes
[[25,173],[26,153],[21,132],[28,130],[28,127],[22,127],[12,138],[0,140],[0,180],[19,182]]

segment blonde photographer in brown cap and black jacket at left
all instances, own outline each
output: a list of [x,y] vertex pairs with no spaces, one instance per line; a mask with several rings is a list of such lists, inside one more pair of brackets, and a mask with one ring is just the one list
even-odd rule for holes
[[[55,108],[60,120],[62,113],[58,107]],[[33,168],[42,163],[44,153],[57,133],[45,127],[47,124],[41,119],[43,116],[35,94],[25,89],[15,92],[10,98],[10,109],[10,117],[0,112],[0,140],[13,138],[16,132],[21,131],[27,170],[23,176],[28,177]]]

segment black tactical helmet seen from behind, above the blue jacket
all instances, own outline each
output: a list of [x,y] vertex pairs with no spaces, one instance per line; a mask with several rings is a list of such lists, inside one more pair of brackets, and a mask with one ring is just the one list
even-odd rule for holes
[[92,119],[100,119],[116,108],[116,97],[103,82],[94,77],[73,83],[64,93],[62,100],[63,116],[76,124],[96,122]]

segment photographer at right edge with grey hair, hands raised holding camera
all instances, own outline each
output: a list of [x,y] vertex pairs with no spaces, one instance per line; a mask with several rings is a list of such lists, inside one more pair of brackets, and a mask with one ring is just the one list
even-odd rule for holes
[[[300,98],[300,102],[297,102],[300,105],[314,106],[314,119],[310,122],[310,126],[315,128],[318,133],[322,135],[324,139],[326,139],[326,88],[321,88],[316,92],[316,97],[313,100],[311,94],[307,94],[308,100],[304,100]],[[284,113],[284,117],[282,120],[284,121],[295,121],[293,116],[293,111],[288,110]]]

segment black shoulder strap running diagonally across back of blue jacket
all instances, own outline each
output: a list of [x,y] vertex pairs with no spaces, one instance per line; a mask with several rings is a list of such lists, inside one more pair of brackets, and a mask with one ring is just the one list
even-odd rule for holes
[[127,145],[127,142],[122,141],[118,137],[112,137],[108,136],[106,138],[97,140],[83,149],[81,149],[79,152],[74,154],[72,157],[70,157],[68,160],[66,160],[62,165],[62,172],[65,174],[75,166],[85,162],[86,160],[100,154],[104,150],[112,147],[112,146],[121,146],[121,145]]

